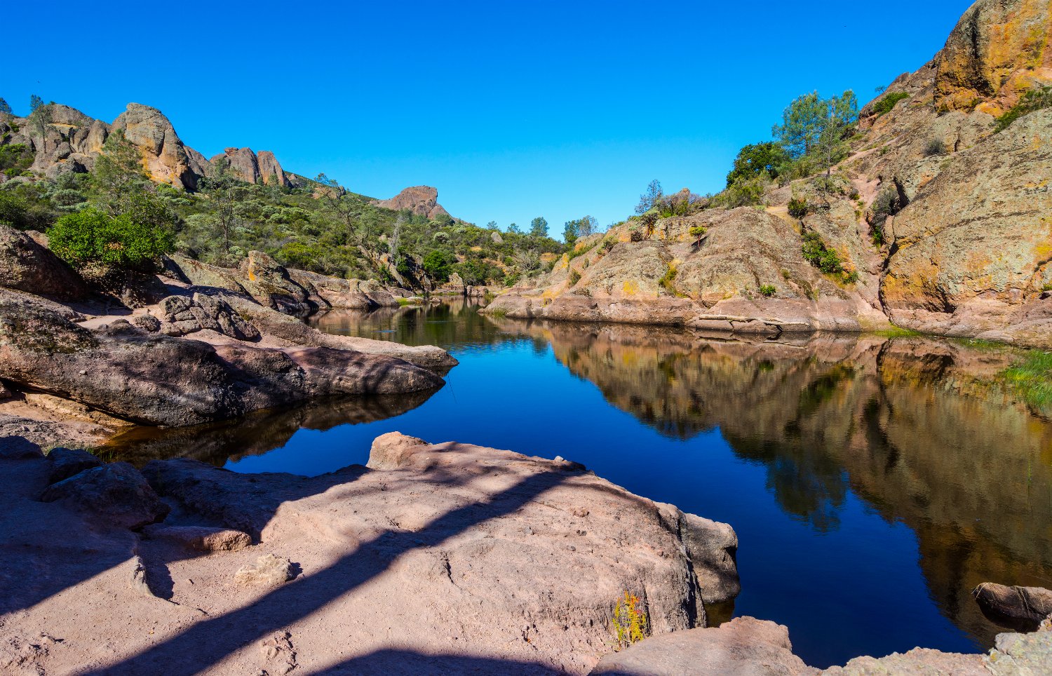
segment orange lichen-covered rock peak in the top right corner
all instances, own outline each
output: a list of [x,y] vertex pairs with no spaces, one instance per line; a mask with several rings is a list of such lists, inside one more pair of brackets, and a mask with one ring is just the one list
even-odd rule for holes
[[1029,88],[1052,84],[1048,0],[978,0],[935,57],[935,104],[1000,115]]

